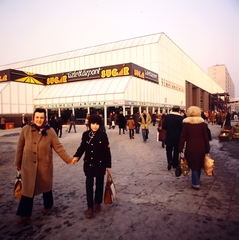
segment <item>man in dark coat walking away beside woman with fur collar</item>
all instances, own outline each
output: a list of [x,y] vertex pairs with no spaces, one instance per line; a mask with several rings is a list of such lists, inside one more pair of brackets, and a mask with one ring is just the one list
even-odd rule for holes
[[166,130],[166,155],[168,161],[168,170],[178,166],[179,141],[182,132],[183,117],[179,113],[179,106],[173,106],[172,111],[165,116],[163,129]]

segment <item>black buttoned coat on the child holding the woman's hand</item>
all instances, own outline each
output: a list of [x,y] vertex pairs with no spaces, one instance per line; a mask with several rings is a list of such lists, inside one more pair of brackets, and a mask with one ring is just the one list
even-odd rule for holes
[[82,134],[81,145],[77,149],[74,157],[84,155],[83,170],[86,176],[104,176],[106,168],[111,168],[111,153],[108,137],[100,130],[95,132],[95,136],[90,140],[90,132]]

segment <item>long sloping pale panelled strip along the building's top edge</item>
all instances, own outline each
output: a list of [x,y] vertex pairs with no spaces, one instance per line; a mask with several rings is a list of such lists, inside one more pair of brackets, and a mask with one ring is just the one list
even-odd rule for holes
[[94,47],[78,49],[70,52],[54,54],[54,55],[45,56],[41,58],[30,59],[22,62],[7,64],[7,65],[0,66],[0,70],[9,69],[9,68],[18,69],[18,68],[23,68],[27,66],[38,65],[41,63],[48,63],[53,61],[69,59],[69,58],[82,57],[86,55],[102,53],[102,52],[107,52],[112,50],[136,47],[144,44],[157,43],[160,39],[161,34],[162,33],[157,33],[157,34],[132,38],[128,40],[107,43],[107,44],[98,45]]

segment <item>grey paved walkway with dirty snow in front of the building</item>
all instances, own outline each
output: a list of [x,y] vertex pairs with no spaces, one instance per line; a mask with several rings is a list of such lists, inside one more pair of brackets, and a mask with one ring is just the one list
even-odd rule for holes
[[[43,216],[37,196],[31,224],[24,227],[12,224],[18,206],[13,161],[21,129],[0,130],[0,239],[238,240],[239,141],[219,143],[220,127],[209,127],[215,171],[214,177],[202,173],[199,191],[191,188],[191,173],[177,178],[173,169],[167,170],[156,127],[151,125],[147,143],[141,134],[130,140],[128,132],[119,135],[118,128],[107,129],[117,188],[114,204],[103,204],[101,213],[86,219],[82,161],[66,165],[54,154],[54,208]],[[63,131],[60,141],[69,154],[75,153],[84,130],[77,125],[77,133]]]

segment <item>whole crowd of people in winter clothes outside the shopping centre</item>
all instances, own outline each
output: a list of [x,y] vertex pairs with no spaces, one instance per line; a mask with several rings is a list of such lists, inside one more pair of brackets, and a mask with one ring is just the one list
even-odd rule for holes
[[[219,117],[217,117],[220,116]],[[225,118],[222,118],[222,116]],[[215,117],[215,119],[214,119]],[[235,117],[235,115],[234,115]],[[75,116],[70,116],[70,127],[75,127]],[[158,140],[162,148],[166,146],[167,170],[179,166],[179,154],[184,153],[188,166],[192,170],[192,187],[200,189],[200,175],[205,155],[210,151],[211,140],[208,124],[230,125],[231,114],[223,111],[203,113],[199,107],[191,106],[187,111],[173,106],[169,113],[149,114],[146,109],[142,113],[124,116],[123,111],[110,113],[109,129],[118,125],[119,135],[129,132],[129,139],[141,130],[143,143],[149,138],[150,123],[157,124]],[[30,123],[22,116],[22,131],[17,144],[15,166],[22,175],[22,197],[17,209],[20,218],[15,225],[30,221],[33,200],[36,195],[43,195],[43,214],[48,214],[53,206],[53,154],[54,150],[67,164],[75,164],[83,157],[86,176],[86,217],[91,218],[93,212],[101,211],[104,191],[104,175],[110,173],[111,152],[103,116],[87,114],[86,131],[83,132],[80,146],[74,156],[69,156],[58,137],[62,136],[63,121],[61,117],[52,116],[48,123],[46,110],[35,109]],[[94,187],[95,183],[95,187]]]

